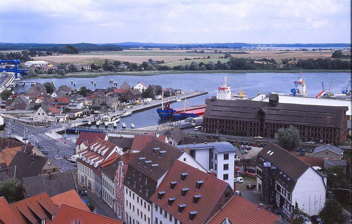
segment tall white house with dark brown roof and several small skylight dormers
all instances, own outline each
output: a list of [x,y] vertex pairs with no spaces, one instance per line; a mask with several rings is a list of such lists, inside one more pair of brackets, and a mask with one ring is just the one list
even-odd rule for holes
[[125,223],[153,223],[150,197],[175,159],[206,172],[186,151],[157,138],[152,138],[128,163],[124,178]]

